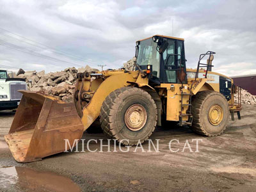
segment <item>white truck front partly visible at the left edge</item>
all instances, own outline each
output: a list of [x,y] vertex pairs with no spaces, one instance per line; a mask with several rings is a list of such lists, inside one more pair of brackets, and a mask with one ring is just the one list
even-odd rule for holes
[[9,78],[6,70],[0,70],[0,110],[19,106],[22,94],[18,90],[27,90],[26,80]]

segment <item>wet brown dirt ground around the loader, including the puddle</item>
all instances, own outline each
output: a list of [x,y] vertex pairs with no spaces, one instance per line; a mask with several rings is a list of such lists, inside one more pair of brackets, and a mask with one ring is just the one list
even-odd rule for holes
[[[86,141],[98,141],[90,145],[97,152],[85,148],[26,164],[17,163],[4,142],[13,116],[12,111],[0,111],[0,191],[256,191],[255,106],[244,106],[242,120],[230,121],[215,138],[185,127],[158,127],[150,138],[159,140],[159,152],[152,145],[148,152],[147,142],[145,152],[134,152],[136,147],[114,152],[113,145],[110,152],[108,147],[99,152],[99,139],[107,144],[104,134],[85,133]],[[178,152],[169,148],[173,139],[172,150]],[[195,139],[202,140],[199,152]]]

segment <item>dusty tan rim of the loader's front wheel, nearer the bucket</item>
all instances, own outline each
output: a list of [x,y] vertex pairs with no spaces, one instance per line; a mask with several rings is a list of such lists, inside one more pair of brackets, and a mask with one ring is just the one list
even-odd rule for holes
[[133,104],[125,112],[125,125],[131,131],[139,131],[147,122],[146,109],[140,104]]

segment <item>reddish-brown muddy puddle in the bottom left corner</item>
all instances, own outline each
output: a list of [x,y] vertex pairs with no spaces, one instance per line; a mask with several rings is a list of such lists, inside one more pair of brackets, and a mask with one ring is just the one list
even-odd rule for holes
[[0,191],[81,191],[68,177],[19,166],[0,168]]

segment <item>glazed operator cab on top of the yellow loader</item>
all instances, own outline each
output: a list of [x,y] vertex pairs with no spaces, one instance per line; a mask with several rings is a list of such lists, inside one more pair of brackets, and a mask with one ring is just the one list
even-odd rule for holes
[[154,35],[136,42],[141,70],[150,69],[152,83],[187,83],[184,39]]

